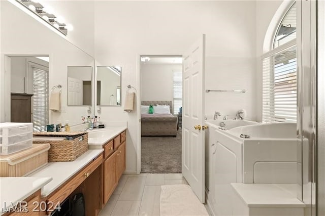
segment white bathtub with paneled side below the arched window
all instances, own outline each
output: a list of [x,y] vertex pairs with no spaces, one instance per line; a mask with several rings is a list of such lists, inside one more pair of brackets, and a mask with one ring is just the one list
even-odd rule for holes
[[[212,132],[210,130],[210,132]],[[240,134],[250,138],[241,138]],[[232,215],[232,183],[297,183],[295,123],[251,124],[214,130],[208,203],[216,215]]]

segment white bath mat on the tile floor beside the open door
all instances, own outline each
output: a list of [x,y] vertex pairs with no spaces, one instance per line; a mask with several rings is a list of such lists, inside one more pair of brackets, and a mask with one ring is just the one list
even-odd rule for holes
[[160,193],[160,216],[209,215],[188,185],[163,185]]

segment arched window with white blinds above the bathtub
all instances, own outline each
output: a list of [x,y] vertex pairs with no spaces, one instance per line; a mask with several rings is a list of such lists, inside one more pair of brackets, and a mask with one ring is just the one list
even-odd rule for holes
[[263,122],[297,121],[296,3],[275,31],[263,55]]

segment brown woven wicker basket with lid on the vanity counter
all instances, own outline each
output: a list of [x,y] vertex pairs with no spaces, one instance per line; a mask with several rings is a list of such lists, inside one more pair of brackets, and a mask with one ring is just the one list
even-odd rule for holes
[[[50,143],[48,162],[74,161],[80,155],[88,151],[87,132],[34,132],[34,136],[42,136],[33,143]],[[53,140],[50,137],[72,136],[74,139]]]

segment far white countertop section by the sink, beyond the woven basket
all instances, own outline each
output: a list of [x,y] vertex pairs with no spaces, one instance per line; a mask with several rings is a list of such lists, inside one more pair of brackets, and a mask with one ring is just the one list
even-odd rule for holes
[[[89,149],[100,149],[103,148],[102,146],[109,141],[110,139],[114,138],[119,133],[126,130],[126,126],[119,126],[119,127],[106,127],[101,129],[93,129],[88,131],[88,144]],[[93,136],[92,136],[93,135]],[[96,148],[98,147],[98,148]]]

